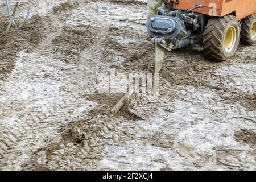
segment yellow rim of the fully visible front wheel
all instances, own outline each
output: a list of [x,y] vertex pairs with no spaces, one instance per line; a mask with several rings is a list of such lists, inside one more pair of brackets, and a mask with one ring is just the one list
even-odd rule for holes
[[227,53],[232,52],[237,40],[237,30],[234,26],[229,27],[226,31],[224,48]]

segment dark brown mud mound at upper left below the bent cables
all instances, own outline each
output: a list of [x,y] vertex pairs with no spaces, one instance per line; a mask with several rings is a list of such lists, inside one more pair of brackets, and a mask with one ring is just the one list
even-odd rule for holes
[[12,29],[10,32],[5,29],[7,19],[2,19],[0,23],[0,73],[10,73],[20,51],[29,52],[38,46],[44,35],[44,22],[35,15],[20,30]]

